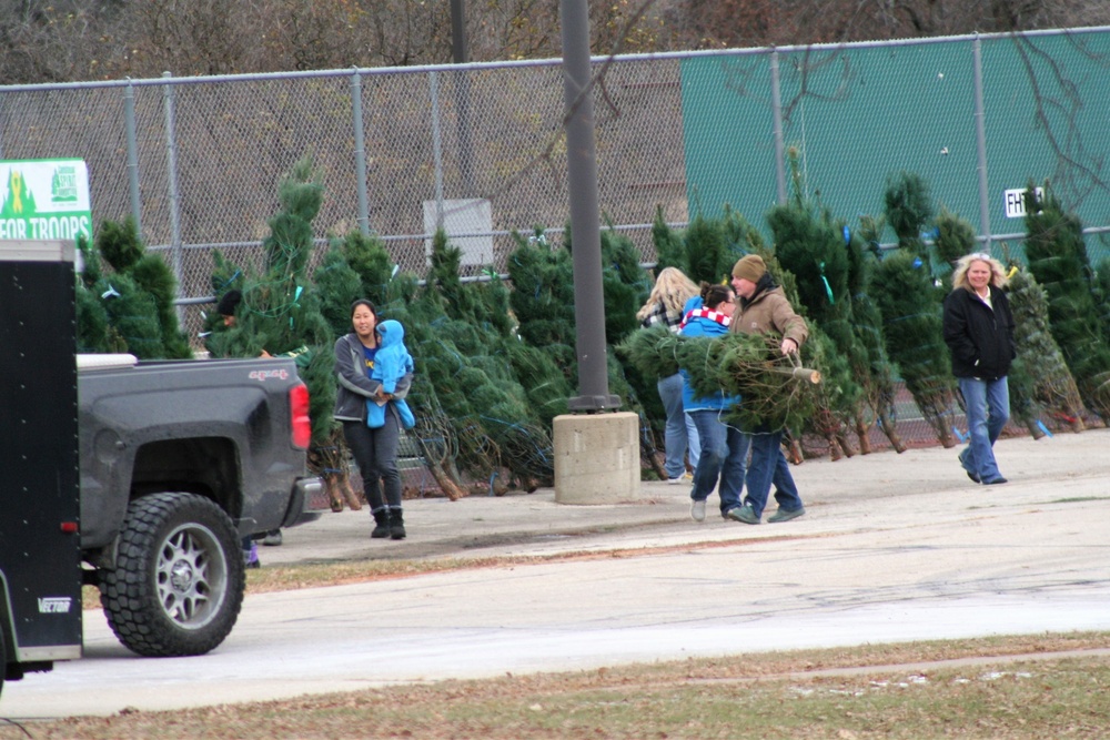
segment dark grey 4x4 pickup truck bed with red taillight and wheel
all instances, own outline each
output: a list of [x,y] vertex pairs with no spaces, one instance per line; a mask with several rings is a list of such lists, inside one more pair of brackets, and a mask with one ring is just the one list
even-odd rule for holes
[[208,652],[243,600],[243,536],[326,508],[305,472],[309,392],[292,359],[78,357],[81,559],[143,656]]

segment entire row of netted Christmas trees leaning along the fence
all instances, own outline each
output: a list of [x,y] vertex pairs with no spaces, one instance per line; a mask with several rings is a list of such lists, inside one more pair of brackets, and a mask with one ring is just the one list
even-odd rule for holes
[[[774,251],[735,212],[726,210],[719,220],[697,216],[683,232],[669,229],[658,212],[653,230],[657,268],[674,265],[695,281],[716,282],[743,254],[765,257],[810,321],[813,339],[804,359],[825,378],[784,394],[781,378],[760,376],[768,382],[757,386],[757,395],[796,435],[818,434],[839,456],[854,452],[850,433],[867,452],[867,433],[878,425],[896,449],[904,449],[894,413],[895,378],[901,376],[938,439],[955,444],[955,382],[940,337],[940,301],[949,290],[948,265],[975,250],[973,229],[945,211],[935,216],[926,183],[908,173],[888,182],[884,219],[866,220],[855,231],[805,199],[797,175],[794,185],[791,201],[767,216]],[[462,282],[460,252],[442,233],[423,284],[397,273],[381,240],[359,233],[332,240],[310,275],[312,221],[323,197],[312,162],[299,162],[279,189],[281,210],[269,223],[260,264],[233,264],[214,253],[216,297],[239,290],[243,301],[233,326],[223,326],[215,312],[208,317],[210,352],[296,356],[312,393],[312,464],[329,479],[337,505],[343,499],[355,504],[342,435],[331,418],[332,344],[350,331],[352,301],[367,297],[381,318],[405,325],[417,369],[410,397],[417,416],[413,438],[440,488],[457,497],[466,493],[466,481],[495,490],[548,483],[552,418],[567,412],[577,387],[573,245],[552,250],[542,231],[518,236],[507,261],[512,290],[496,275]],[[1011,280],[1019,343],[1011,405],[1035,433],[1041,419],[1079,429],[1084,407],[1103,420],[1110,413],[1104,314],[1110,270],[1096,276],[1078,220],[1062,212],[1050,192],[1031,205],[1029,268],[1018,268]],[[898,235],[898,249],[880,253],[886,223]],[[921,239],[930,227],[932,249]],[[640,414],[645,460],[662,475],[655,452],[664,412],[655,379],[668,367],[658,353],[645,351],[646,335],[635,318],[652,275],[639,266],[632,242],[613,230],[603,231],[602,251],[604,321],[614,349],[609,389]],[[79,347],[142,358],[191,356],[176,323],[174,292],[172,274],[159,256],[144,252],[132,223],[104,223],[94,247],[84,250]],[[715,362],[739,368],[739,356],[715,355]],[[704,374],[696,378],[706,379]],[[754,404],[753,386],[745,387]]]

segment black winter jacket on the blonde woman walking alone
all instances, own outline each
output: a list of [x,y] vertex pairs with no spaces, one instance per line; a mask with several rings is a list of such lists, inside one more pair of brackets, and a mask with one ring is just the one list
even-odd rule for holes
[[956,377],[997,381],[1010,372],[1017,356],[1010,302],[991,285],[990,303],[993,311],[962,287],[945,297],[945,343],[951,351]]

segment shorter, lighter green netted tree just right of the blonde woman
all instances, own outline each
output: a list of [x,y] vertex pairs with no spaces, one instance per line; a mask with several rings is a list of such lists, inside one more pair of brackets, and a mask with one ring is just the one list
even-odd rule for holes
[[1043,436],[1041,413],[1057,428],[1082,432],[1083,402],[1059,345],[1052,338],[1048,297],[1028,270],[1015,270],[1007,283],[1018,356],[1007,377],[1012,415],[1033,437]]

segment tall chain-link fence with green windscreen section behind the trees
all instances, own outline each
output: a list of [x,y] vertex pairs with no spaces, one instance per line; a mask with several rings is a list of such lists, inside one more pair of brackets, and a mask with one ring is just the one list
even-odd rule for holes
[[[885,178],[921,174],[996,244],[1020,241],[1006,192],[1050,180],[1106,254],[1110,30],[595,60],[602,212],[654,259],[656,209],[683,225],[728,203],[761,226],[803,186],[854,223]],[[422,274],[443,224],[464,268],[503,271],[513,231],[567,219],[558,60],[0,88],[0,156],[80,158],[95,221],[131,214],[182,298],[210,251],[250,262],[278,186],[311,155],[321,245],[382,236]]]

